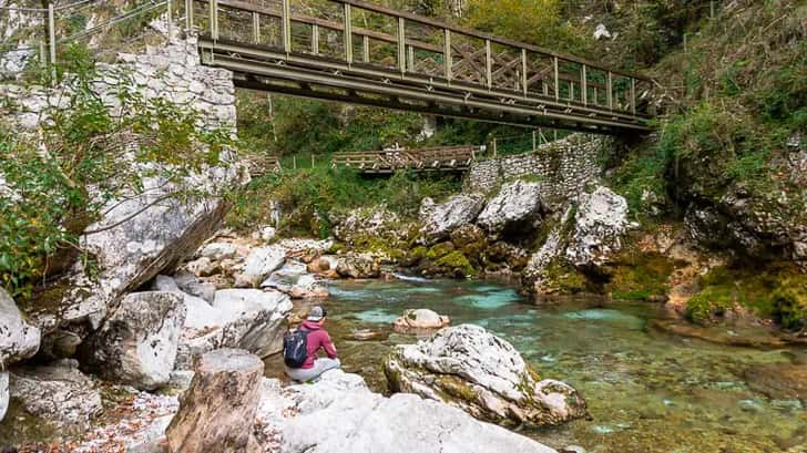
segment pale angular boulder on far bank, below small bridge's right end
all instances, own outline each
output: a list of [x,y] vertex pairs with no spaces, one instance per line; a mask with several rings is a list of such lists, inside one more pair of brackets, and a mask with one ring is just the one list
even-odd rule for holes
[[473,223],[483,207],[484,197],[479,194],[454,195],[440,204],[423,198],[419,214],[423,238],[428,244],[446,239],[454,229]]

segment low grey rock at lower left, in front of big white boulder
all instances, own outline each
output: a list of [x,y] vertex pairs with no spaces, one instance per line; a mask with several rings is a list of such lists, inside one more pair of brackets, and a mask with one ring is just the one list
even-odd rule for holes
[[76,432],[84,432],[90,419],[103,410],[101,394],[92,380],[82,374],[79,362],[71,359],[14,370],[11,399],[30,414],[57,428]]

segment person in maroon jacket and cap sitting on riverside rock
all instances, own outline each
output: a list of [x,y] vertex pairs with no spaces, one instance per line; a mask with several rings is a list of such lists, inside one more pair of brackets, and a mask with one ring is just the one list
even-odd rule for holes
[[[336,356],[336,348],[334,347],[334,342],[330,340],[330,336],[328,334],[328,332],[323,329],[326,316],[327,312],[323,309],[323,307],[317,306],[311,308],[311,310],[308,312],[308,318],[306,318],[303,325],[297,329],[297,332],[292,333],[292,336],[302,333],[302,336],[305,338],[304,341],[306,344],[306,356],[305,361],[299,368],[294,367],[296,363],[290,363],[293,362],[293,360],[289,361],[289,356],[293,356],[294,353],[288,349],[289,344],[293,344],[293,342],[289,343],[288,340],[286,341],[286,351],[284,352],[284,356],[286,358],[286,375],[294,379],[295,381],[308,382],[313,379],[318,378],[320,374],[328,370],[341,367],[341,362]],[[289,337],[287,337],[287,339]],[[318,357],[320,349],[325,351],[327,358]]]

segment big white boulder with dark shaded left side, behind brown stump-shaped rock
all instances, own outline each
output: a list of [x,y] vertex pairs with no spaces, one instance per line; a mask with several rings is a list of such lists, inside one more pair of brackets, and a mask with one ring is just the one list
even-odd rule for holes
[[154,390],[171,378],[185,316],[176,292],[132,292],[82,344],[81,354],[106,379]]

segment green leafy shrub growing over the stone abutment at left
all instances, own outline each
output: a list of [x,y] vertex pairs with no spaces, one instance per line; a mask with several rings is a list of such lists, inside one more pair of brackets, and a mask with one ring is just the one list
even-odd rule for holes
[[[113,95],[126,114],[112,116],[92,89],[86,52],[72,54],[72,72],[58,71],[64,107],[45,112],[52,121],[39,136],[0,125],[0,285],[14,296],[69,266],[111,200],[142,193],[144,178],[178,183],[231,145],[227,131],[197,130],[196,112],[143,97],[122,71],[108,75],[120,80]],[[176,189],[160,200],[195,195]]]

